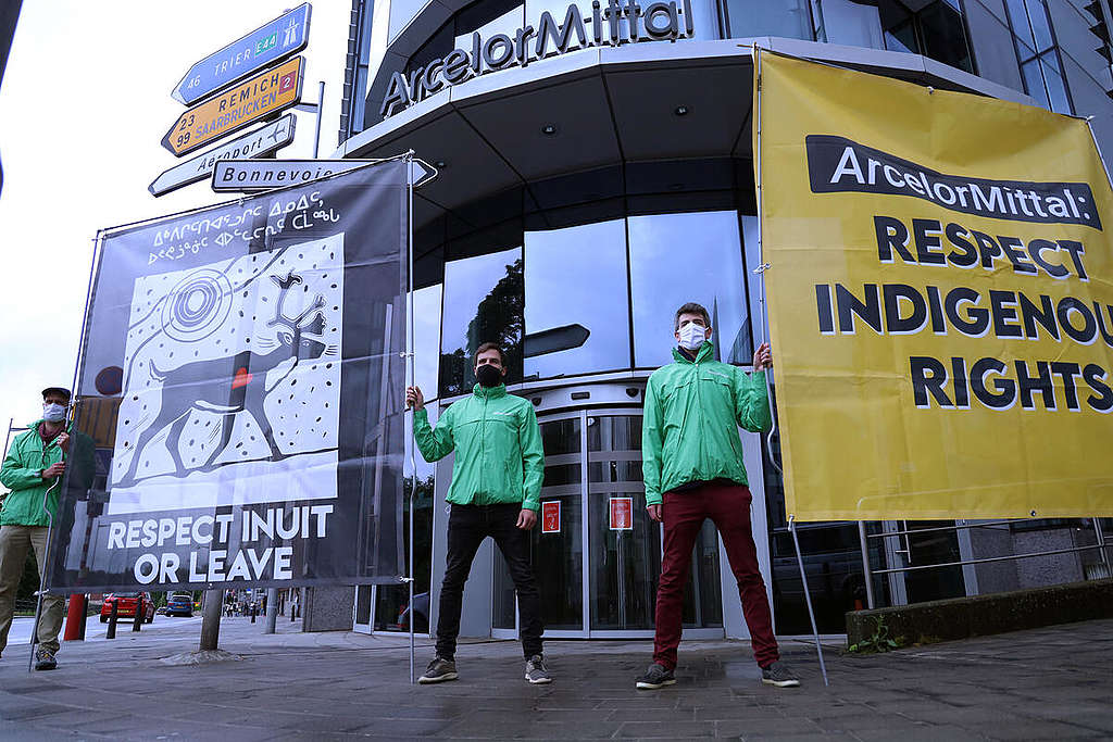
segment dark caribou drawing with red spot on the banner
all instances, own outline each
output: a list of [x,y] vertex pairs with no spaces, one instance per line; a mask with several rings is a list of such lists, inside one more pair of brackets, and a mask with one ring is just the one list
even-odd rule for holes
[[[287,317],[283,311],[286,297],[294,286],[303,283],[303,279],[294,271],[285,277],[270,276],[270,279],[278,286],[279,293],[275,317],[267,321],[267,326],[286,328],[277,333],[277,346],[273,350],[265,354],[250,350],[223,358],[197,360],[168,372],[160,372],[154,363],[150,364],[151,376],[162,383],[158,417],[140,433],[131,453],[127,474],[116,486],[135,484],[144,448],[167,425],[170,426],[170,431],[166,445],[174,459],[174,476],[185,477],[189,471],[214,468],[214,462],[230,442],[233,419],[230,416],[245,409],[255,418],[259,432],[270,447],[270,461],[285,457],[275,443],[274,429],[263,404],[268,394],[266,375],[279,364],[293,359],[294,363],[282,377],[285,379],[299,362],[313,360],[325,354],[328,347],[326,344],[305,337],[305,335],[318,337],[323,335],[325,317],[319,309],[325,306],[325,300],[317,295],[299,315]],[[313,318],[303,324],[309,315],[313,315]],[[273,384],[270,389],[274,389],[278,382]],[[187,467],[181,461],[178,444],[193,409],[223,415],[225,425],[223,439],[206,461],[199,466]]]

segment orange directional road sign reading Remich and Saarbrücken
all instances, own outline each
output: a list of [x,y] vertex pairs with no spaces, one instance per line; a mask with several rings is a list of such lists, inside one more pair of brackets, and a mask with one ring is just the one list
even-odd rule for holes
[[302,99],[304,78],[305,59],[295,57],[228,88],[179,116],[162,137],[162,146],[181,157],[253,121],[296,106]]

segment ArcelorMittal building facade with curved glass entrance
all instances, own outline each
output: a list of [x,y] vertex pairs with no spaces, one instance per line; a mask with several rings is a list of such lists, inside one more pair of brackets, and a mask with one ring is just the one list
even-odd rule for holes
[[[643,509],[642,395],[670,360],[676,308],[709,308],[728,363],[748,366],[767,337],[754,274],[752,46],[1092,116],[1109,152],[1109,20],[1107,0],[355,0],[336,156],[413,149],[440,171],[415,194],[416,380],[435,418],[470,392],[481,343],[509,352],[510,390],[541,424],[542,499],[559,503],[558,526],[533,533],[546,635],[651,635],[661,546]],[[776,630],[806,633],[769,462],[776,436],[743,443]],[[418,455],[412,473],[414,611],[401,588],[359,588],[357,629],[397,627],[411,613],[418,629],[435,624],[451,471],[451,457]],[[612,530],[612,503],[627,497],[633,527]],[[800,526],[819,630],[841,633],[844,613],[870,602],[1107,574],[1093,548],[1100,522],[956,525],[969,524]],[[971,563],[1035,552],[1055,553]],[[922,565],[949,566],[881,572]],[[463,633],[510,637],[515,620],[489,543]],[[746,636],[710,523],[684,622],[696,636]]]

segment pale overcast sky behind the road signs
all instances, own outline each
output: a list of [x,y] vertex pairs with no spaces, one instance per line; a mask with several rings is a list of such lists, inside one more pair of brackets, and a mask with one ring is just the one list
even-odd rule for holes
[[[170,98],[178,80],[298,4],[23,2],[0,87],[0,426],[38,419],[41,389],[72,382],[97,230],[226,200],[207,181],[147,191],[181,161],[159,144],[185,110]],[[313,3],[303,99],[326,82],[322,157],[336,146],[351,7]],[[279,157],[313,154],[315,115],[298,117]]]

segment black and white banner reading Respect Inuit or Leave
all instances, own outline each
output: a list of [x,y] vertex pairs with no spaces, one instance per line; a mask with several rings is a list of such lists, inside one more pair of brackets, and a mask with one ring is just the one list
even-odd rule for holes
[[102,234],[51,592],[397,580],[408,167]]

